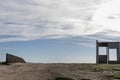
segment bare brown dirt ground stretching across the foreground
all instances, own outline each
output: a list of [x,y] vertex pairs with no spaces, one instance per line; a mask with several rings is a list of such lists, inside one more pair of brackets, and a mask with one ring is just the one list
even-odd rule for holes
[[114,70],[100,70],[91,64],[23,64],[0,65],[0,80],[55,80],[68,77],[73,80],[119,80],[107,77],[120,73]]

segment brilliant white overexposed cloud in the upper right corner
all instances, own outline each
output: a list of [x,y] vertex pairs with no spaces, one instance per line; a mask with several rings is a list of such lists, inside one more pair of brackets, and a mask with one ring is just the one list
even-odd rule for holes
[[[99,6],[92,18],[92,23],[101,26],[102,31],[120,32],[120,1],[111,0]],[[107,32],[108,34],[111,32]],[[117,33],[116,33],[117,34]],[[113,37],[116,37],[113,35]]]

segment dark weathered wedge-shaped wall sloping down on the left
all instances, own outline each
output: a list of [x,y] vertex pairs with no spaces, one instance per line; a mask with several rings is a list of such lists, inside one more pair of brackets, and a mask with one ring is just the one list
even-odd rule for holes
[[20,58],[18,56],[14,56],[11,54],[6,54],[6,63],[25,63],[25,60],[23,58]]

